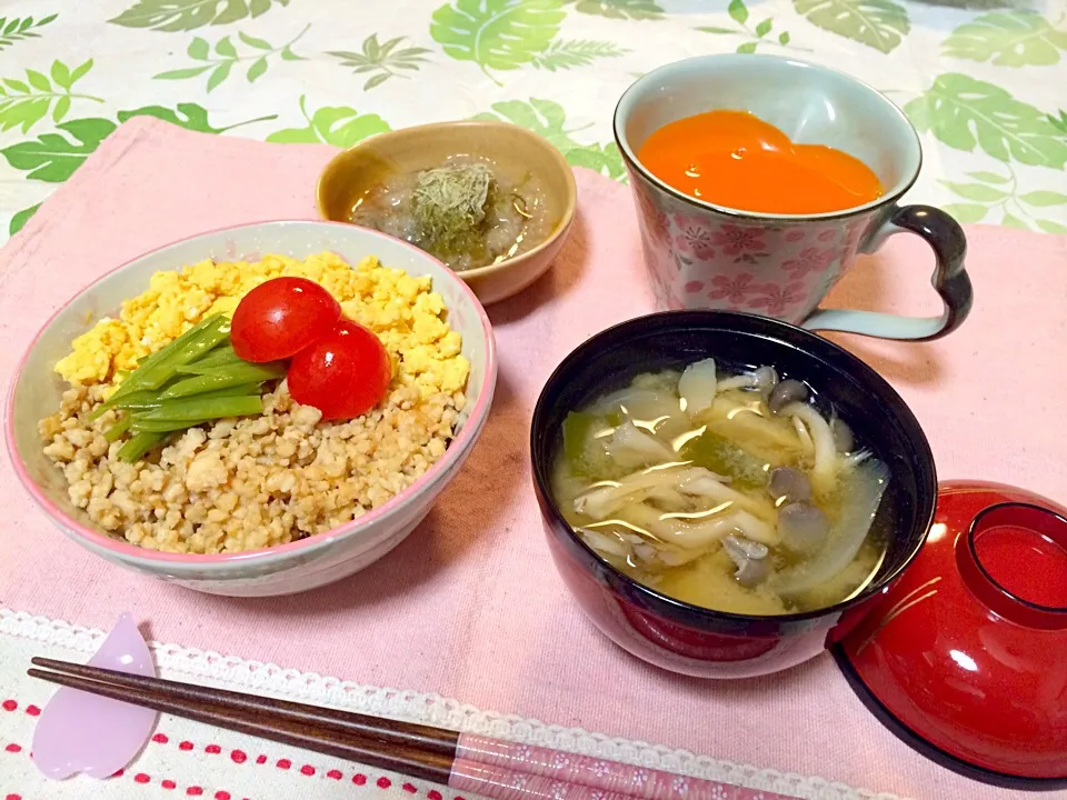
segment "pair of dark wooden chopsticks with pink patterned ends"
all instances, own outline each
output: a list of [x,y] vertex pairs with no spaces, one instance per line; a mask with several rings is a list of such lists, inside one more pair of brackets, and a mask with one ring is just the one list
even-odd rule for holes
[[[28,674],[498,800],[712,800],[737,787],[477,734],[34,658]],[[768,800],[788,800],[764,792]]]

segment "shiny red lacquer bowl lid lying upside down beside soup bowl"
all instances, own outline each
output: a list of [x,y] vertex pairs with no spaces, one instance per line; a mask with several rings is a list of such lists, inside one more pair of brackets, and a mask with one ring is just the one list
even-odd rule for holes
[[941,483],[927,543],[836,656],[926,756],[1000,786],[1067,786],[1067,508]]

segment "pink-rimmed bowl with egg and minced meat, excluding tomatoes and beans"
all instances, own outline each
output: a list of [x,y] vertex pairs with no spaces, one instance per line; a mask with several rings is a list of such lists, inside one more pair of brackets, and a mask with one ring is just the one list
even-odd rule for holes
[[[99,413],[113,382],[279,276],[319,282],[378,336],[395,364],[380,403],[327,421],[281,380],[261,416],[117,458],[111,412]],[[481,304],[423,251],[353,226],[247,224],[134,259],[63,306],[19,366],[7,442],[33,500],[81,547],[198,591],[287,594],[351,576],[416,529],[478,440],[496,374]]]

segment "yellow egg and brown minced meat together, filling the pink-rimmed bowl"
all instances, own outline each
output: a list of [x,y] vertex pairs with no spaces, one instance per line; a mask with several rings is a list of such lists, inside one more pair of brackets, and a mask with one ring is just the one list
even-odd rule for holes
[[[358,419],[320,422],[318,410],[293,402],[282,381],[265,396],[262,417],[192,428],[147,460],[119,461],[123,440],[103,438],[116,412],[89,416],[121,372],[283,274],[321,283],[346,316],[378,334],[392,359],[387,399]],[[255,550],[343,524],[426,472],[445,453],[463,409],[470,364],[430,289],[429,278],[372,258],[351,269],[330,253],[158,272],[118,319],[100,320],[57,363],[71,388],[60,410],[41,420],[44,452],[92,522],[152,550]]]

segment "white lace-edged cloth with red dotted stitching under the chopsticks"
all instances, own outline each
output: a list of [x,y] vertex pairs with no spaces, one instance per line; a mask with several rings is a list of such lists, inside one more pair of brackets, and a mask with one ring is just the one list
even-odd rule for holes
[[[0,608],[0,698],[4,704],[0,708],[0,798],[3,800],[29,800],[31,797],[60,797],[56,787],[63,784],[46,784],[43,778],[29,762],[29,739],[32,732],[33,710],[37,706],[31,701],[43,703],[51,693],[51,689],[39,681],[26,677],[26,668],[32,656],[52,656],[54,658],[77,658],[79,654],[93,652],[104,638],[100,630],[88,629],[58,620],[33,617],[24,612]],[[472,706],[436,694],[421,694],[371,686],[361,686],[338,678],[323,677],[313,672],[300,672],[293,669],[283,669],[271,663],[261,663],[222,656],[210,650],[182,648],[176,644],[150,642],[161,677],[176,680],[196,679],[197,682],[209,683],[222,688],[247,691],[258,694],[272,694],[280,698],[299,700],[320,706],[332,706],[351,711],[391,717],[395,719],[433,724],[469,733],[508,739],[529,744],[567,750],[570,752],[597,756],[614,759],[631,764],[640,764],[680,774],[732,783],[736,786],[764,789],[781,794],[805,798],[806,800],[901,800],[895,794],[878,793],[864,789],[856,789],[844,783],[827,781],[822,778],[801,776],[790,772],[780,772],[774,769],[760,769],[750,764],[721,761],[708,756],[696,756],[684,750],[672,750],[666,747],[642,741],[615,739],[599,733],[592,733],[580,728],[565,728],[550,726],[537,720],[523,719],[516,716],[481,711]],[[57,653],[56,651],[66,651]],[[14,697],[24,694],[26,698]],[[8,697],[10,696],[10,697]],[[10,707],[14,704],[16,708]],[[23,711],[23,712],[20,712]],[[7,713],[4,713],[7,711]],[[247,762],[261,766],[273,766],[270,772],[263,772],[263,778],[255,783],[257,787],[255,799],[265,797],[288,798],[292,789],[281,788],[277,793],[270,791],[270,786],[278,780],[290,780],[291,777],[319,777],[325,779],[322,789],[337,786],[337,797],[353,797],[356,787],[365,787],[367,791],[398,790],[406,793],[418,793],[428,800],[442,800],[441,788],[431,784],[406,782],[400,776],[383,773],[380,770],[363,769],[353,773],[353,764],[317,757],[315,753],[298,751],[271,742],[243,737],[228,731],[210,729],[173,717],[163,716],[160,720],[153,744],[149,744],[139,759],[126,770],[126,776],[133,776],[133,784],[141,788],[156,786],[169,796],[185,792],[187,796],[216,797],[218,800],[243,800],[240,793],[229,790],[209,793],[200,783],[190,782],[189,776],[185,782],[178,780],[153,778],[143,766],[147,759],[152,758],[154,746],[173,746],[178,753],[202,754],[221,757],[229,752],[227,759],[215,758],[205,761],[199,759],[197,780],[206,783],[202,777],[211,764],[210,772],[217,782],[226,782],[229,772],[219,774],[219,770],[229,770],[232,773],[245,769]],[[29,732],[27,732],[29,731]],[[21,740],[19,738],[21,737]],[[211,743],[203,746],[200,742],[211,739]],[[225,742],[225,744],[222,743]],[[18,748],[18,750],[14,750]],[[162,748],[160,748],[161,750]],[[262,751],[262,752],[260,752]],[[251,753],[258,753],[252,756]],[[282,757],[278,757],[282,753]],[[21,758],[22,768],[13,768],[14,758]],[[308,760],[302,767],[295,764]],[[287,766],[288,764],[288,766]],[[143,766],[144,772],[140,772]],[[189,767],[192,762],[189,762]],[[188,772],[177,762],[169,769]],[[360,768],[362,769],[362,768]],[[21,792],[18,787],[9,789],[4,776],[14,774],[16,780],[23,781]],[[36,776],[36,778],[33,778]],[[267,777],[272,776],[272,777]],[[147,778],[147,780],[144,780]],[[361,780],[360,780],[361,779]],[[30,784],[28,781],[32,780]],[[82,779],[76,779],[81,782]],[[88,780],[88,779],[86,779]],[[71,781],[67,781],[70,784]],[[30,793],[31,786],[49,786],[42,793]],[[185,788],[183,788],[185,787]],[[199,789],[200,791],[193,791]],[[82,791],[84,788],[82,787]],[[174,790],[181,790],[176,792]],[[40,790],[39,790],[40,791]],[[6,796],[4,792],[8,792]],[[446,792],[449,797],[453,793]],[[67,797],[66,792],[62,793]],[[69,797],[79,797],[76,792]],[[124,792],[122,794],[126,796]],[[116,797],[119,797],[117,793]],[[130,797],[150,797],[144,791]],[[162,794],[160,794],[162,797]],[[333,797],[332,793],[318,791],[316,797]]]

